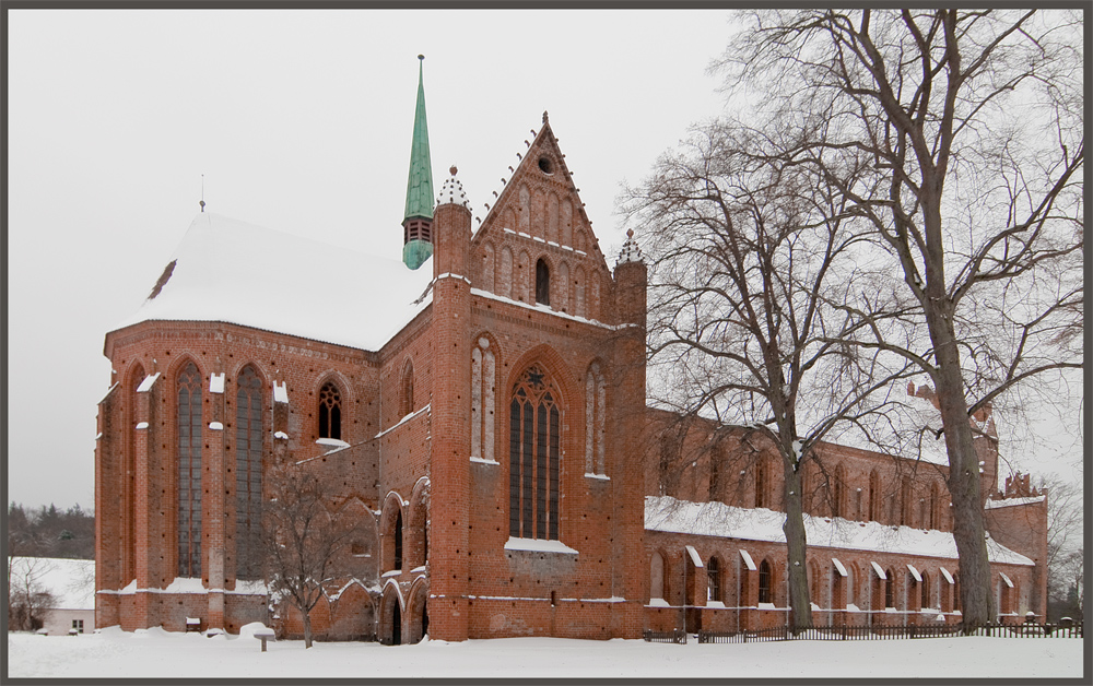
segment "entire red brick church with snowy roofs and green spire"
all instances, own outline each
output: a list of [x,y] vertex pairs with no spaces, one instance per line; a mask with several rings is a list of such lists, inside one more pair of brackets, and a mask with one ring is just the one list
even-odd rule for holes
[[[611,268],[545,113],[472,230],[455,167],[434,191],[419,74],[401,260],[203,210],[106,335],[96,626],[257,620],[297,636],[257,554],[289,463],[357,523],[310,615],[321,638],[786,620],[775,453],[747,428],[681,428],[647,407],[640,250],[628,238]],[[929,389],[908,398],[929,405]],[[992,493],[997,436],[989,412],[976,421]],[[832,469],[807,475],[826,494],[807,504],[814,619],[959,622],[945,468],[820,449]],[[985,501],[1011,620],[1045,612],[1046,498],[1018,475]]]

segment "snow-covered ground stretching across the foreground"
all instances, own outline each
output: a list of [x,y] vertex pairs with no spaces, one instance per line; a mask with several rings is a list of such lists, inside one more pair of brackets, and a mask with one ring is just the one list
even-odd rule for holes
[[1082,640],[945,638],[685,646],[553,638],[270,642],[117,627],[9,634],[8,677],[1082,677]]

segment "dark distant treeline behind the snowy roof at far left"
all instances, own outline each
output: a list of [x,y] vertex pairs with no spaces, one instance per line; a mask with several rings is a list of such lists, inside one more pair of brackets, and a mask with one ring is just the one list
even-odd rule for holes
[[95,559],[95,513],[79,505],[8,506],[8,555]]

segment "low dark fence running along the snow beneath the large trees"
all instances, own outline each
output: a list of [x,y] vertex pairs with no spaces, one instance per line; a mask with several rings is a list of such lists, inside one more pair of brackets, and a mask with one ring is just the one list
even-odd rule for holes
[[[987,625],[966,630],[960,625],[936,626],[826,626],[792,631],[789,627],[771,627],[751,631],[698,631],[700,643],[748,643],[755,641],[851,641],[893,640],[907,638],[945,638],[952,636],[990,636],[1004,638],[1084,638],[1083,625],[1006,624]],[[646,629],[645,640],[662,643],[685,643],[682,629],[653,631]]]

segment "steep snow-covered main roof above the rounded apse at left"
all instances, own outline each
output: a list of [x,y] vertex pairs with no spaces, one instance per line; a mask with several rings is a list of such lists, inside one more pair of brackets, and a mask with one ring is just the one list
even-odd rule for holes
[[422,297],[431,262],[410,270],[212,213],[198,214],[167,262],[157,293],[116,329],[222,321],[376,351],[432,300]]

